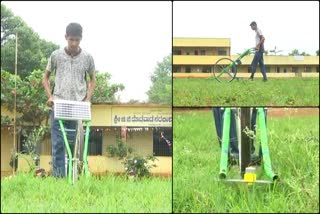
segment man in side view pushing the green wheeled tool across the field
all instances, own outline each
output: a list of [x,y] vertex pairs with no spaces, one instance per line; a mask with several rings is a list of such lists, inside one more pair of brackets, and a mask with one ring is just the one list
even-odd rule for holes
[[256,53],[251,63],[251,76],[250,80],[253,80],[253,76],[256,72],[257,64],[259,63],[260,70],[263,76],[263,81],[267,81],[266,68],[263,62],[263,52],[264,52],[264,36],[262,35],[261,30],[258,28],[256,22],[251,22],[251,29],[256,32]]

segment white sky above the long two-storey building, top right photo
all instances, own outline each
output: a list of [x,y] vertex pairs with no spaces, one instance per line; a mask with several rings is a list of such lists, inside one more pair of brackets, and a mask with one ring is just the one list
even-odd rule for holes
[[256,21],[265,48],[315,55],[319,49],[319,2],[174,2],[174,37],[231,38],[231,54],[255,46]]

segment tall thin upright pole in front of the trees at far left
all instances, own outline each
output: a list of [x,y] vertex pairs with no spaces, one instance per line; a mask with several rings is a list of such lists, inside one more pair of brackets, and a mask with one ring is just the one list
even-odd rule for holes
[[17,64],[18,64],[18,33],[16,33],[16,54],[14,63],[14,109],[13,109],[13,175],[16,168],[16,111],[17,111]]

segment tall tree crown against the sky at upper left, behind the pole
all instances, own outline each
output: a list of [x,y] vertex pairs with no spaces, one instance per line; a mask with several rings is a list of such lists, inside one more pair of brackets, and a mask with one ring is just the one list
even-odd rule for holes
[[1,68],[14,73],[15,35],[18,33],[18,75],[27,77],[32,71],[44,70],[50,54],[59,46],[40,39],[27,24],[1,4]]

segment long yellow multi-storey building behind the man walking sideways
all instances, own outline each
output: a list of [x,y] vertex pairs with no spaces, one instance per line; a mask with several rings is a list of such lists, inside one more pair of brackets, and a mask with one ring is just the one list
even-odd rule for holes
[[[232,60],[228,38],[174,38],[173,77],[209,77],[221,58]],[[199,54],[200,53],[200,54]],[[249,77],[253,55],[242,58],[237,66],[238,77]],[[319,56],[264,56],[269,77],[319,76]],[[257,76],[261,75],[257,67]]]

